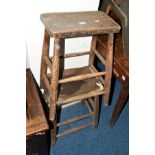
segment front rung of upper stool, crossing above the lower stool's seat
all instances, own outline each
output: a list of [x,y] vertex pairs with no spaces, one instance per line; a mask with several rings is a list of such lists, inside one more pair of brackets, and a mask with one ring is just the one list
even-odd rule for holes
[[89,73],[89,74],[83,74],[83,75],[77,75],[77,76],[72,76],[69,78],[61,79],[58,81],[59,84],[62,83],[68,83],[68,82],[73,82],[73,81],[80,81],[80,80],[86,80],[90,78],[94,78],[97,76],[102,76],[105,75],[106,72],[96,72],[96,73]]

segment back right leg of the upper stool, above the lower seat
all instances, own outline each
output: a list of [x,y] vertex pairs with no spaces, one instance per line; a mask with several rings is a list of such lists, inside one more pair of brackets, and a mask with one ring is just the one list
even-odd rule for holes
[[90,48],[90,55],[89,55],[89,65],[94,64],[94,59],[95,59],[94,50],[96,48],[96,42],[97,42],[97,36],[93,36],[92,42],[91,42],[91,48]]

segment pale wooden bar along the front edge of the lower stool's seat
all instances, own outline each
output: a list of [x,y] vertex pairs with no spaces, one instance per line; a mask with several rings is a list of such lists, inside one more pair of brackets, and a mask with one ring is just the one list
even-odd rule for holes
[[87,94],[82,94],[82,95],[77,95],[77,96],[74,96],[74,97],[67,98],[66,100],[60,100],[60,101],[58,100],[57,101],[57,105],[60,106],[60,105],[66,104],[66,103],[70,103],[70,102],[74,102],[74,101],[79,101],[79,100],[84,100],[86,98],[90,98],[92,96],[98,96],[98,95],[102,95],[102,94],[105,94],[104,90],[95,91],[95,92],[89,92]]

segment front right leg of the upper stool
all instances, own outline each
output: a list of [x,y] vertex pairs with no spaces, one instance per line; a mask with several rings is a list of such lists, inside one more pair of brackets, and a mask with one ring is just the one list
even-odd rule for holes
[[114,34],[108,34],[108,45],[106,52],[106,66],[105,66],[105,95],[104,95],[104,105],[108,106],[110,87],[111,87],[111,77],[112,77],[112,65],[113,65],[113,38]]

